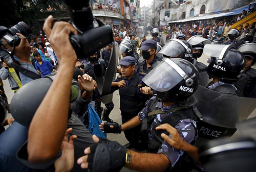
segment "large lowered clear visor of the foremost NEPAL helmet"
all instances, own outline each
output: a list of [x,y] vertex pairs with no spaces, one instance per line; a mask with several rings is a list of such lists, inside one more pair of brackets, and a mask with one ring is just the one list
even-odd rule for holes
[[[171,59],[167,59],[167,61],[168,60]],[[180,74],[166,61],[161,61],[142,79],[148,87],[159,92],[172,89],[182,80],[183,78]]]

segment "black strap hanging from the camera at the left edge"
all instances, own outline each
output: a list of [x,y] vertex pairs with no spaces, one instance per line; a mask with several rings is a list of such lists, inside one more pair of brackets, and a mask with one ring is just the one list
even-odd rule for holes
[[12,58],[14,56],[14,51],[15,51],[15,46],[13,47],[13,51],[12,51],[11,55],[6,50],[2,49],[0,51],[0,57],[3,57],[8,62],[8,64],[10,64],[14,69],[18,70],[20,73],[23,73],[23,75],[25,75],[33,80],[41,78],[35,72],[28,70],[28,69],[14,63],[12,60]]

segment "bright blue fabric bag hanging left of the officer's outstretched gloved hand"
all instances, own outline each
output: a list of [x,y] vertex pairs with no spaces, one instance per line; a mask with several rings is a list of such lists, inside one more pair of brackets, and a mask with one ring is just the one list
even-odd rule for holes
[[97,137],[106,139],[106,133],[102,133],[103,130],[99,129],[101,120],[97,112],[93,109],[92,105],[90,104],[88,105],[88,120],[89,120],[88,130],[92,133],[92,135],[95,134]]

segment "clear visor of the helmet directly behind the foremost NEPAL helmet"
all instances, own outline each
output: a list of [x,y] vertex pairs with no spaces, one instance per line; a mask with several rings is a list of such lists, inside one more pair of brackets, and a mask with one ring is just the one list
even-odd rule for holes
[[163,48],[159,51],[157,56],[168,56],[168,57],[177,57],[185,50],[184,46],[177,41],[167,42]]

